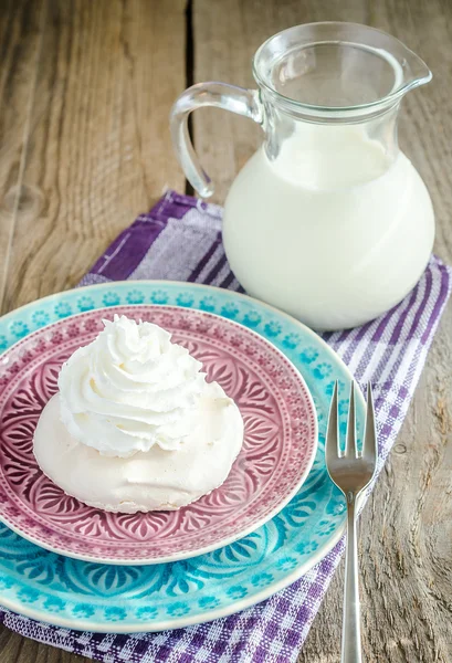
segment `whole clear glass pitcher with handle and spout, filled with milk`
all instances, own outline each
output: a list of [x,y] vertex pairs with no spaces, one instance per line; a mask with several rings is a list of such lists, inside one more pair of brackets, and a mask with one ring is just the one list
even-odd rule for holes
[[397,141],[401,99],[431,72],[389,34],[327,22],[269,39],[253,73],[256,91],[200,83],[177,99],[180,164],[209,197],[189,113],[216,106],[259,123],[263,145],[224,206],[232,271],[250,295],[311,327],[366,323],[410,292],[432,250],[431,200]]

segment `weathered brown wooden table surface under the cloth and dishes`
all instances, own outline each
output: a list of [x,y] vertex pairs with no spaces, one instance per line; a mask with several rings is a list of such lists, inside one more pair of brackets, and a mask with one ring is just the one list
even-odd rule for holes
[[[283,28],[347,20],[387,30],[435,78],[411,93],[404,151],[452,262],[451,0],[1,0],[0,304],[72,287],[165,188],[183,191],[168,112],[189,84],[251,86],[250,60]],[[218,110],[193,118],[221,202],[260,141]],[[452,661],[452,306],[398,443],[362,516],[364,650],[369,662]],[[337,573],[299,662],[339,660]],[[83,661],[0,631],[0,663]],[[87,661],[87,659],[86,659]]]

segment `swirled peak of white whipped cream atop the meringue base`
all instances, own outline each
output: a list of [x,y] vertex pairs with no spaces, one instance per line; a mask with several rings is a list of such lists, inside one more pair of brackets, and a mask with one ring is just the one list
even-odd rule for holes
[[202,365],[157,325],[117,315],[104,325],[60,371],[62,422],[105,455],[179,449],[206,389]]

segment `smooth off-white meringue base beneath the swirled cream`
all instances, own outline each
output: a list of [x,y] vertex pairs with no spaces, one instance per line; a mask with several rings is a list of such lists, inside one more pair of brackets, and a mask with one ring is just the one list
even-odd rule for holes
[[34,455],[44,474],[90,506],[128,514],[174,511],[220,486],[242,445],[240,411],[217,382],[206,386],[198,414],[175,451],[155,444],[126,459],[105,456],[71,436],[55,394],[39,420]]

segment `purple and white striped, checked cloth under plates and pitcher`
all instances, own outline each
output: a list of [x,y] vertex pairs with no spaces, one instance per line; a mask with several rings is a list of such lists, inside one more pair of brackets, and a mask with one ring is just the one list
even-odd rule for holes
[[[167,194],[125,230],[81,285],[169,278],[243,292],[221,243],[218,206]],[[432,256],[417,287],[380,318],[325,334],[359,382],[378,383],[381,469],[407,413],[452,286],[452,270]],[[8,628],[105,663],[295,662],[344,549],[341,540],[287,589],[241,613],[161,633],[115,635],[71,631],[0,611]]]

